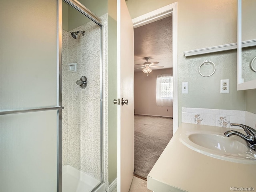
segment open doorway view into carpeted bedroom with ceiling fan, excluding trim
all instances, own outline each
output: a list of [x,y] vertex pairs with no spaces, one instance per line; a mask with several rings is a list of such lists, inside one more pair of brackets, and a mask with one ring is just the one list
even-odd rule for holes
[[173,132],[172,16],[134,28],[134,60],[134,176],[146,179]]

